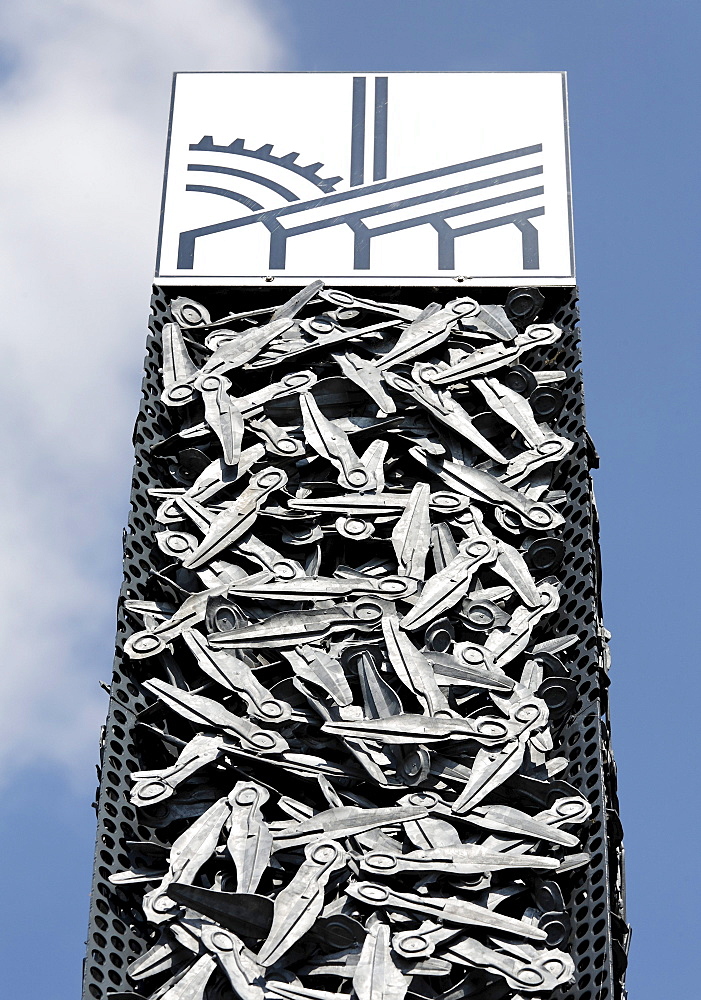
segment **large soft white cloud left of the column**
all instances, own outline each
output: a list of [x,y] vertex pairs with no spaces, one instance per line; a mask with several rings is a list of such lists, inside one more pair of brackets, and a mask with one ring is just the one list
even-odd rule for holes
[[170,75],[285,53],[252,0],[6,0],[0,37],[0,777],[45,760],[82,782],[111,669]]

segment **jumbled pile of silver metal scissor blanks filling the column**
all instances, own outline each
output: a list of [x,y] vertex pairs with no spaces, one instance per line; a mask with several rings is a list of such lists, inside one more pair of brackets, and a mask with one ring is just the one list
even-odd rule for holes
[[572,442],[547,423],[542,304],[321,282],[216,321],[172,304],[156,596],[126,605],[155,699],[131,798],[172,847],[132,844],[113,876],[145,883],[159,934],[132,996],[500,1000],[572,978],[561,881],[591,810],[558,777]]

